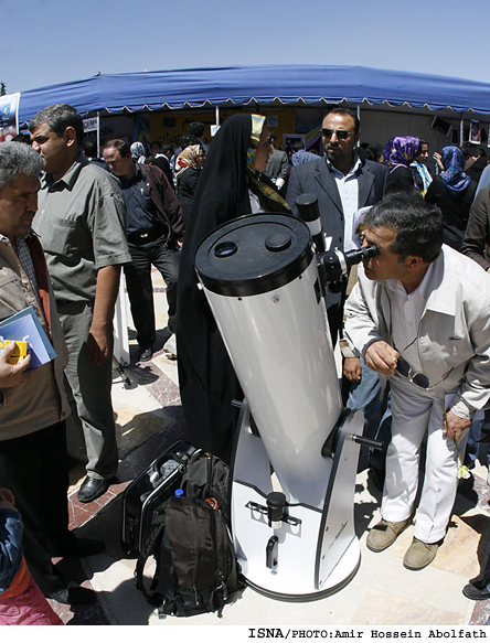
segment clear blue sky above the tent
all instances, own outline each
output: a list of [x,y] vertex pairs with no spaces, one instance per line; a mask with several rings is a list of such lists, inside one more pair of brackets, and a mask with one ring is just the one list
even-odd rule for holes
[[489,0],[0,0],[0,10],[9,94],[98,72],[313,63],[490,83]]

